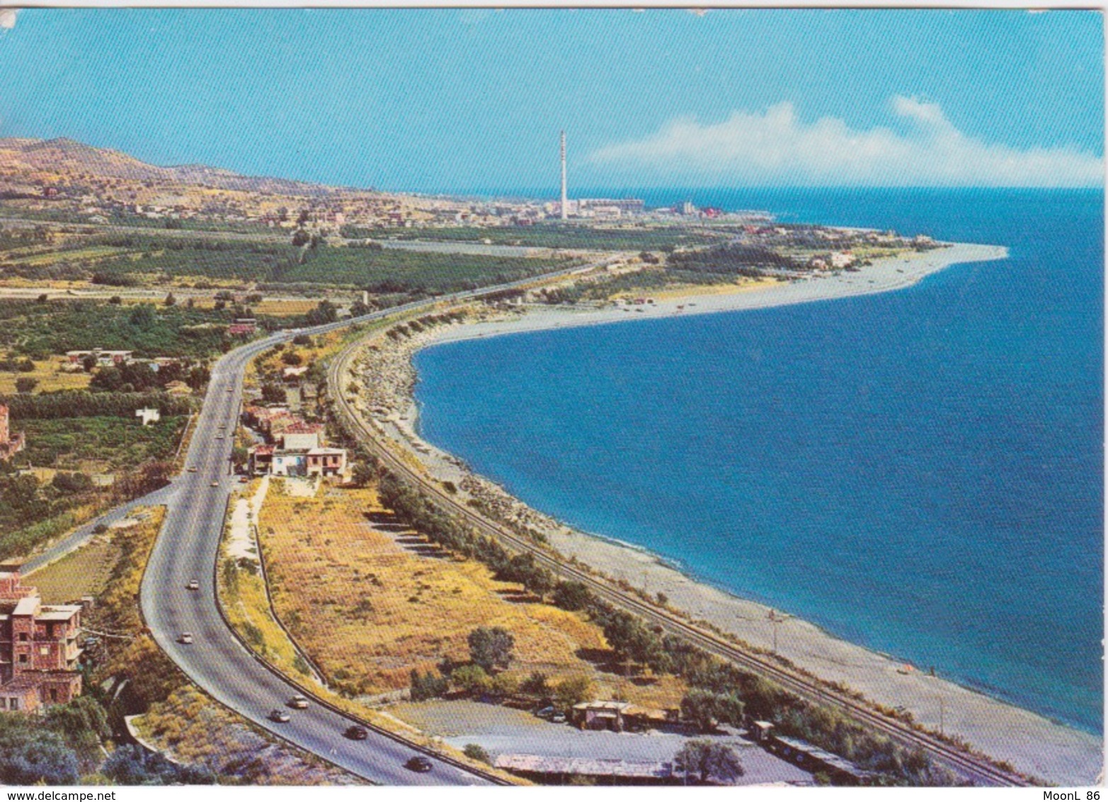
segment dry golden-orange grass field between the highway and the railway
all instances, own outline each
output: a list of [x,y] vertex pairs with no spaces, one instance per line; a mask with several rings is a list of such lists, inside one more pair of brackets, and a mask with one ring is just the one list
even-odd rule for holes
[[478,627],[515,639],[505,672],[552,682],[588,676],[597,692],[652,707],[679,703],[673,678],[625,682],[607,669],[604,635],[568,612],[493,578],[390,524],[373,490],[329,489],[312,499],[271,487],[259,531],[277,615],[336,687],[378,693],[407,688],[412,669],[469,660]]

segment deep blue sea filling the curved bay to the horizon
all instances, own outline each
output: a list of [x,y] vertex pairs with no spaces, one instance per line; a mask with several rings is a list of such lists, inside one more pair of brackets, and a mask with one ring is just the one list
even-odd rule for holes
[[1102,193],[646,197],[1010,257],[882,295],[437,346],[417,357],[422,436],[575,527],[1101,732]]

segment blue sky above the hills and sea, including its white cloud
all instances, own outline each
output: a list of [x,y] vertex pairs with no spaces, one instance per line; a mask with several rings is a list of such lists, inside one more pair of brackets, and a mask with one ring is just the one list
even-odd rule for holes
[[27,9],[0,136],[424,192],[1102,186],[1096,11]]

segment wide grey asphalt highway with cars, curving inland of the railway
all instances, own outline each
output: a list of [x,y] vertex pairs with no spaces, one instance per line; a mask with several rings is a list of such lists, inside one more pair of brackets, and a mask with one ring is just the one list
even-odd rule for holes
[[[229,629],[216,603],[219,539],[233,483],[236,481],[230,473],[230,451],[246,365],[266,348],[290,339],[295,334],[322,334],[353,323],[525,286],[579,270],[582,266],[575,265],[480,291],[404,304],[358,318],[298,332],[278,332],[243,345],[216,363],[185,459],[185,465],[195,466],[196,473],[185,471],[168,488],[125,506],[131,509],[143,502],[166,505],[165,520],[146,565],[140,599],[143,618],[154,640],[193,682],[259,727],[371,782],[391,785],[504,783],[492,773],[472,770],[434,754],[428,755],[433,764],[430,772],[409,771],[403,763],[417,753],[416,747],[366,722],[361,723],[369,729],[369,738],[350,741],[342,737],[342,732],[355,720],[318,700],[307,710],[290,710],[291,721],[287,723],[276,723],[267,718],[269,711],[276,708],[287,709],[285,703],[289,697],[304,692],[310,694],[310,689],[293,683],[261,663]],[[223,439],[216,439],[220,435]],[[213,487],[213,483],[217,486]],[[114,520],[122,514],[123,508],[117,508],[100,520]],[[72,548],[84,529],[64,542]],[[192,579],[199,582],[196,591],[185,589]],[[183,632],[191,632],[195,642],[179,643],[177,638]]]

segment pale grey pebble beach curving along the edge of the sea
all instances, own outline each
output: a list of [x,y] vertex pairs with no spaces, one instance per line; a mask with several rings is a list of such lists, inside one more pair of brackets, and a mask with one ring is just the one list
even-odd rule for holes
[[[709,622],[752,647],[772,650],[776,635],[777,651],[798,667],[827,681],[841,682],[860,691],[872,702],[911,711],[915,720],[925,727],[958,735],[976,749],[1006,760],[1020,771],[1063,785],[1090,784],[1098,780],[1104,763],[1101,738],[1051,722],[950,680],[909,670],[890,656],[837,638],[808,621],[778,615],[774,622],[767,606],[698,581],[663,556],[635,545],[571,529],[526,507],[503,488],[471,474],[456,457],[424,443],[416,429],[418,410],[412,390],[417,377],[411,357],[425,347],[520,332],[765,308],[890,292],[916,284],[952,264],[994,261],[1005,256],[1006,250],[1002,247],[955,244],[910,254],[906,258],[881,260],[858,272],[824,274],[807,281],[750,283],[728,292],[700,287],[686,295],[654,293],[653,304],[618,304],[586,309],[543,306],[485,314],[483,319],[433,328],[403,344],[389,344],[383,346],[383,351],[379,349],[375,359],[384,357],[388,363],[386,384],[391,379],[394,386],[386,392],[383,400],[378,397],[376,404],[361,412],[377,430],[418,459],[430,476],[453,483],[461,494],[494,508],[500,517],[541,532],[566,558],[575,558],[616,581],[627,582],[652,596],[664,592],[669,607],[687,613],[691,619]],[[380,378],[373,376],[371,380]]]

